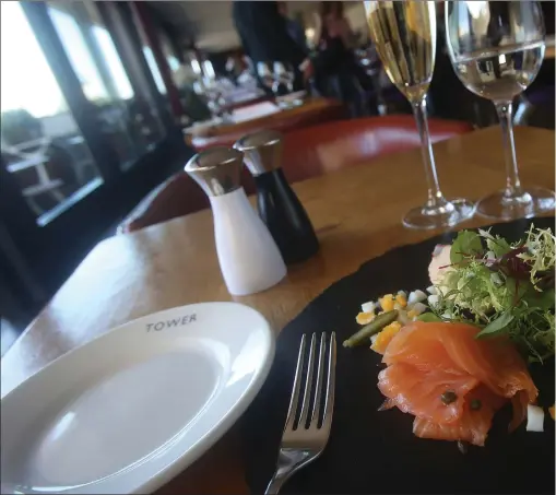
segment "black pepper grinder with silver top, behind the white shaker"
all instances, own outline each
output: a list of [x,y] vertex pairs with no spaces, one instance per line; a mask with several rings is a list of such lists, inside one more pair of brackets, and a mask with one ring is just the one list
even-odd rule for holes
[[255,178],[259,216],[267,224],[284,261],[305,261],[319,249],[307,212],[287,184],[282,169],[282,135],[264,130],[234,144]]

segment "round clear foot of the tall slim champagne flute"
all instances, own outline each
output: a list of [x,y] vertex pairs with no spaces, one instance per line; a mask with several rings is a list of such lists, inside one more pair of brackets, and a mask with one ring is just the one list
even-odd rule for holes
[[403,217],[403,225],[407,228],[430,231],[433,228],[453,227],[475,214],[475,205],[466,199],[454,199],[438,212],[428,205],[414,208]]

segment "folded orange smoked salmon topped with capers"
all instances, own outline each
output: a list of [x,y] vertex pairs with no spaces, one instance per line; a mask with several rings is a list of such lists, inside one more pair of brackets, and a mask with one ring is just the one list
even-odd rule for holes
[[514,428],[535,401],[536,387],[516,347],[506,339],[475,339],[463,323],[412,322],[386,349],[378,388],[382,409],[415,415],[422,438],[484,445],[493,416],[509,399]]

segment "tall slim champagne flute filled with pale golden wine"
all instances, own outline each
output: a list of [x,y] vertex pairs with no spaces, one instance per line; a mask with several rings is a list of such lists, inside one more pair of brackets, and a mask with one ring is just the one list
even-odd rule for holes
[[413,108],[421,137],[428,199],[403,219],[410,228],[443,228],[471,219],[475,212],[465,199],[448,201],[438,185],[427,125],[426,95],[435,68],[436,7],[434,1],[366,1],[370,37],[390,81]]

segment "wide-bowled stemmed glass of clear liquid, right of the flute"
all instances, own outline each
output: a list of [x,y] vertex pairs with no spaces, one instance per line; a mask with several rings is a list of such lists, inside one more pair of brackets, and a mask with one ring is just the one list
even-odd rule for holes
[[512,220],[554,210],[554,191],[521,186],[516,161],[512,101],[535,79],[544,57],[544,23],[535,1],[446,2],[448,52],[463,85],[490,99],[498,114],[506,188],[483,198],[477,212]]

